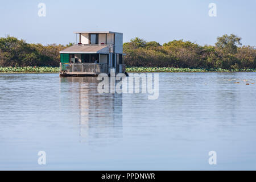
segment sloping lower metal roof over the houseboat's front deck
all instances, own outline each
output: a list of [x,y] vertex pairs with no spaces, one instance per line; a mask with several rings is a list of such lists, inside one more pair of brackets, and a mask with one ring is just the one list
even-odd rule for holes
[[71,46],[60,53],[109,53],[109,46]]

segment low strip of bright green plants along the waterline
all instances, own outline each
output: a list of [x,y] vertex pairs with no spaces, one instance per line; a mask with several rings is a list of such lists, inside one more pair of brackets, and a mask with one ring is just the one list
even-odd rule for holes
[[[59,73],[59,67],[0,67],[0,73]],[[191,69],[127,67],[127,72],[256,72],[256,69]]]

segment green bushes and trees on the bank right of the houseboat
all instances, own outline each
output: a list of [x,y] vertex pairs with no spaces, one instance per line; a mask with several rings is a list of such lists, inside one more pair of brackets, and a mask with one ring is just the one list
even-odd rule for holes
[[215,46],[173,40],[161,46],[135,38],[123,45],[126,64],[131,67],[170,67],[196,69],[255,69],[256,49],[241,46],[241,38],[224,35]]

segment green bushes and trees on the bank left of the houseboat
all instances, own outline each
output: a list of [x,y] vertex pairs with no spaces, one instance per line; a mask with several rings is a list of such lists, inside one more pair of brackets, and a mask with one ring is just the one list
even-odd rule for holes
[[1,67],[59,67],[60,51],[72,46],[28,44],[7,36],[0,38]]

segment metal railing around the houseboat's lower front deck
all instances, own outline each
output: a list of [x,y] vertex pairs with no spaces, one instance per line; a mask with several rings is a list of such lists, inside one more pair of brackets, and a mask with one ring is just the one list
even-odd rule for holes
[[109,73],[108,64],[96,63],[60,63],[60,72],[67,74],[90,74]]

